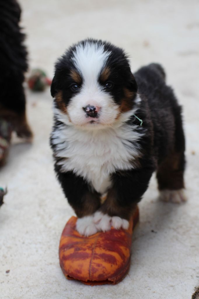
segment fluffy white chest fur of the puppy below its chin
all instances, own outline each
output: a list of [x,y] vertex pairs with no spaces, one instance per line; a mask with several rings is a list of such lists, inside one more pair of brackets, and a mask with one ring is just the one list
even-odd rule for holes
[[133,168],[139,155],[137,140],[142,135],[132,125],[82,130],[65,124],[52,133],[61,171],[73,171],[86,179],[97,192],[105,193],[116,170]]

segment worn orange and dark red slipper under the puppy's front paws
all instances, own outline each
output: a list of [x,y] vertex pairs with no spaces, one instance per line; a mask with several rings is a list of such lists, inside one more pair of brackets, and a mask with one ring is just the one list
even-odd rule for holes
[[88,285],[116,284],[128,273],[133,228],[139,220],[138,208],[128,230],[114,229],[84,237],[76,231],[72,216],[62,232],[59,262],[67,279]]

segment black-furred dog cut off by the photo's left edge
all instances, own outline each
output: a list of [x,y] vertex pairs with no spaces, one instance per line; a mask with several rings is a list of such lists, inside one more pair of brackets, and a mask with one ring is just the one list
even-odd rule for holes
[[23,87],[27,50],[20,17],[21,8],[16,0],[0,1],[0,118],[7,120],[19,137],[30,141],[32,132],[27,123]]

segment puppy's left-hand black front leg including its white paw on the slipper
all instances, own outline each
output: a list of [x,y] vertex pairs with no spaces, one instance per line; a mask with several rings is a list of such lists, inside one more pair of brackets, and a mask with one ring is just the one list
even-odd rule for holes
[[94,213],[100,208],[100,196],[91,191],[88,183],[72,171],[57,174],[69,204],[74,209],[78,219],[76,229],[79,234],[90,236],[97,233],[94,225]]

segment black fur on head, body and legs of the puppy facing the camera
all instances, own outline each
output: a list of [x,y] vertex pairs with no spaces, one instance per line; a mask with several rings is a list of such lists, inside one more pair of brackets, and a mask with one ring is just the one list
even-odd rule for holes
[[[142,127],[145,134],[138,141],[140,157],[136,161],[137,167],[112,173],[112,185],[108,190],[107,199],[100,204],[100,194],[93,190],[85,179],[76,176],[72,171],[65,173],[60,171],[52,138],[51,147],[55,154],[57,177],[78,217],[92,214],[99,209],[110,216],[129,219],[132,210],[145,193],[155,170],[160,190],[178,190],[184,187],[185,139],[181,107],[177,103],[172,88],[166,85],[165,72],[159,64],[152,63],[142,67],[133,76],[123,50],[106,42],[104,45],[105,50],[108,49],[113,53],[108,58],[107,66],[111,68],[108,80],[114,82],[114,89],[110,92],[116,103],[121,103],[124,87],[132,92],[131,99],[128,99],[129,109],[134,105],[137,92],[141,97],[140,108],[136,115],[143,120]],[[59,91],[63,91],[63,102],[66,107],[72,97],[68,86],[72,82],[70,71],[75,68],[71,60],[74,47],[70,48],[56,63],[51,86],[53,97]],[[56,100],[55,106],[59,108]],[[134,115],[128,123],[140,126],[140,121]],[[53,131],[59,130],[60,124],[62,123],[55,117]]]

